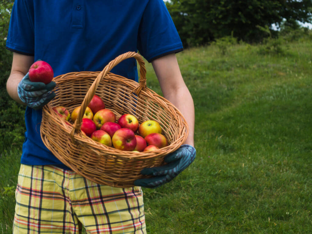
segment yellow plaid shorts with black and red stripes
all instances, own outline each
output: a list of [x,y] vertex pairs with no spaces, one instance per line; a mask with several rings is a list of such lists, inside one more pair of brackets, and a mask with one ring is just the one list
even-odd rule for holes
[[140,187],[113,188],[51,165],[21,165],[13,233],[146,233]]

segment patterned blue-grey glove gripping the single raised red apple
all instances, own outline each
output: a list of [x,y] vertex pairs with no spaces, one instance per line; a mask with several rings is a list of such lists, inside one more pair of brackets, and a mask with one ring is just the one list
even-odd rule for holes
[[32,82],[29,80],[27,73],[18,84],[17,92],[22,102],[26,103],[30,108],[38,110],[55,97],[55,93],[50,92],[55,86],[54,81],[48,84]]

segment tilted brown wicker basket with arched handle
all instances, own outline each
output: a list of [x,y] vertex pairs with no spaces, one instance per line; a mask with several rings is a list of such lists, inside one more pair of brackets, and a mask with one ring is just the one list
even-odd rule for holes
[[[139,83],[110,73],[119,62],[134,57],[140,66]],[[146,70],[142,57],[127,52],[112,60],[101,72],[71,72],[53,79],[56,97],[42,109],[41,138],[46,147],[66,166],[81,176],[99,184],[127,188],[134,180],[145,178],[143,168],[162,165],[163,158],[178,149],[188,134],[182,114],[168,100],[146,88]],[[158,121],[169,145],[151,152],[121,151],[107,147],[87,137],[81,121],[87,105],[96,94],[112,110],[116,118],[129,113],[139,123],[148,119]],[[64,106],[70,113],[80,112],[75,123],[61,119],[53,106]]]

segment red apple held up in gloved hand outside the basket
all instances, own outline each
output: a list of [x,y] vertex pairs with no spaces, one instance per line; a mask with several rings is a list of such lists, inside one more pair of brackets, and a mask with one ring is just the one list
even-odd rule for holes
[[45,61],[36,61],[30,66],[28,76],[32,82],[48,84],[52,81],[54,73],[50,64]]

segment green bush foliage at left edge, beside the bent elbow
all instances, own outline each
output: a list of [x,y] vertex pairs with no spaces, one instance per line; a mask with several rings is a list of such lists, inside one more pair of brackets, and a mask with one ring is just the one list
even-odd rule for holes
[[12,52],[5,48],[12,6],[13,1],[0,1],[0,139],[5,147],[21,144],[25,131],[25,107],[13,101],[6,90],[12,64]]

